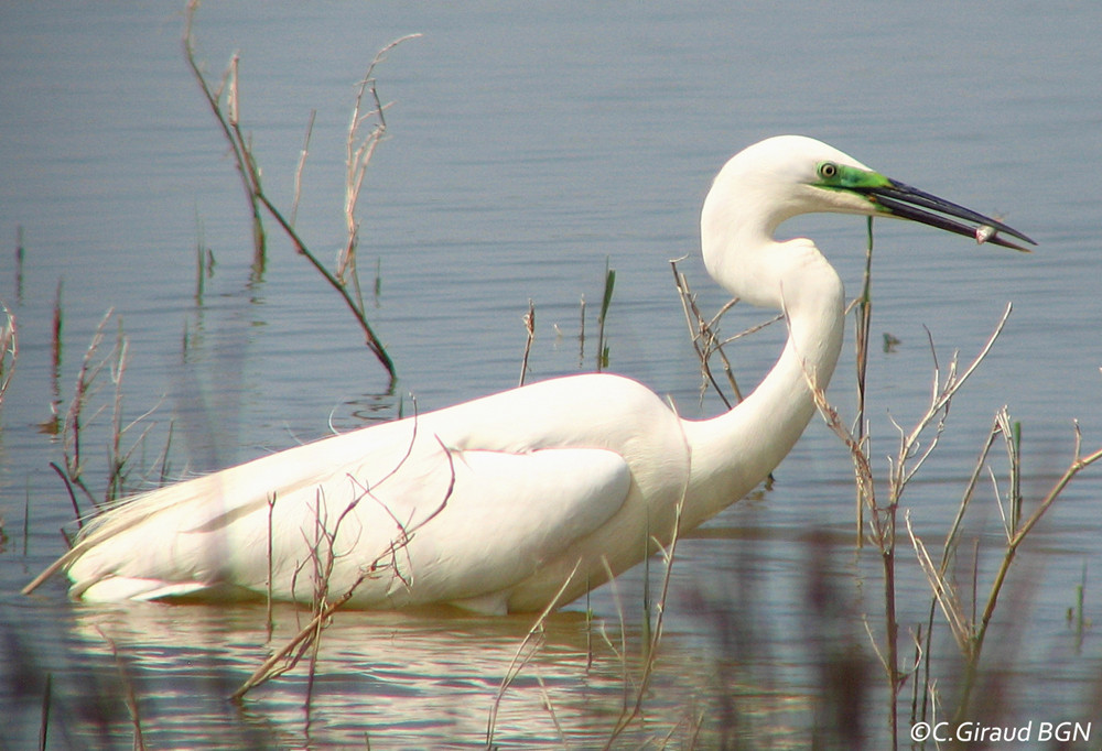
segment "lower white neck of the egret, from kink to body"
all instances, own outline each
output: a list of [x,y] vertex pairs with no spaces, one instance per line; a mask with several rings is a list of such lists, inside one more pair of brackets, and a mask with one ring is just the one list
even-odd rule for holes
[[[780,464],[814,415],[812,383],[825,390],[842,348],[842,281],[808,240],[773,243],[768,269],[788,323],[780,359],[754,392],[726,414],[687,421],[692,529],[753,490]],[[763,264],[764,265],[764,264]],[[781,281],[782,280],[782,281]]]

